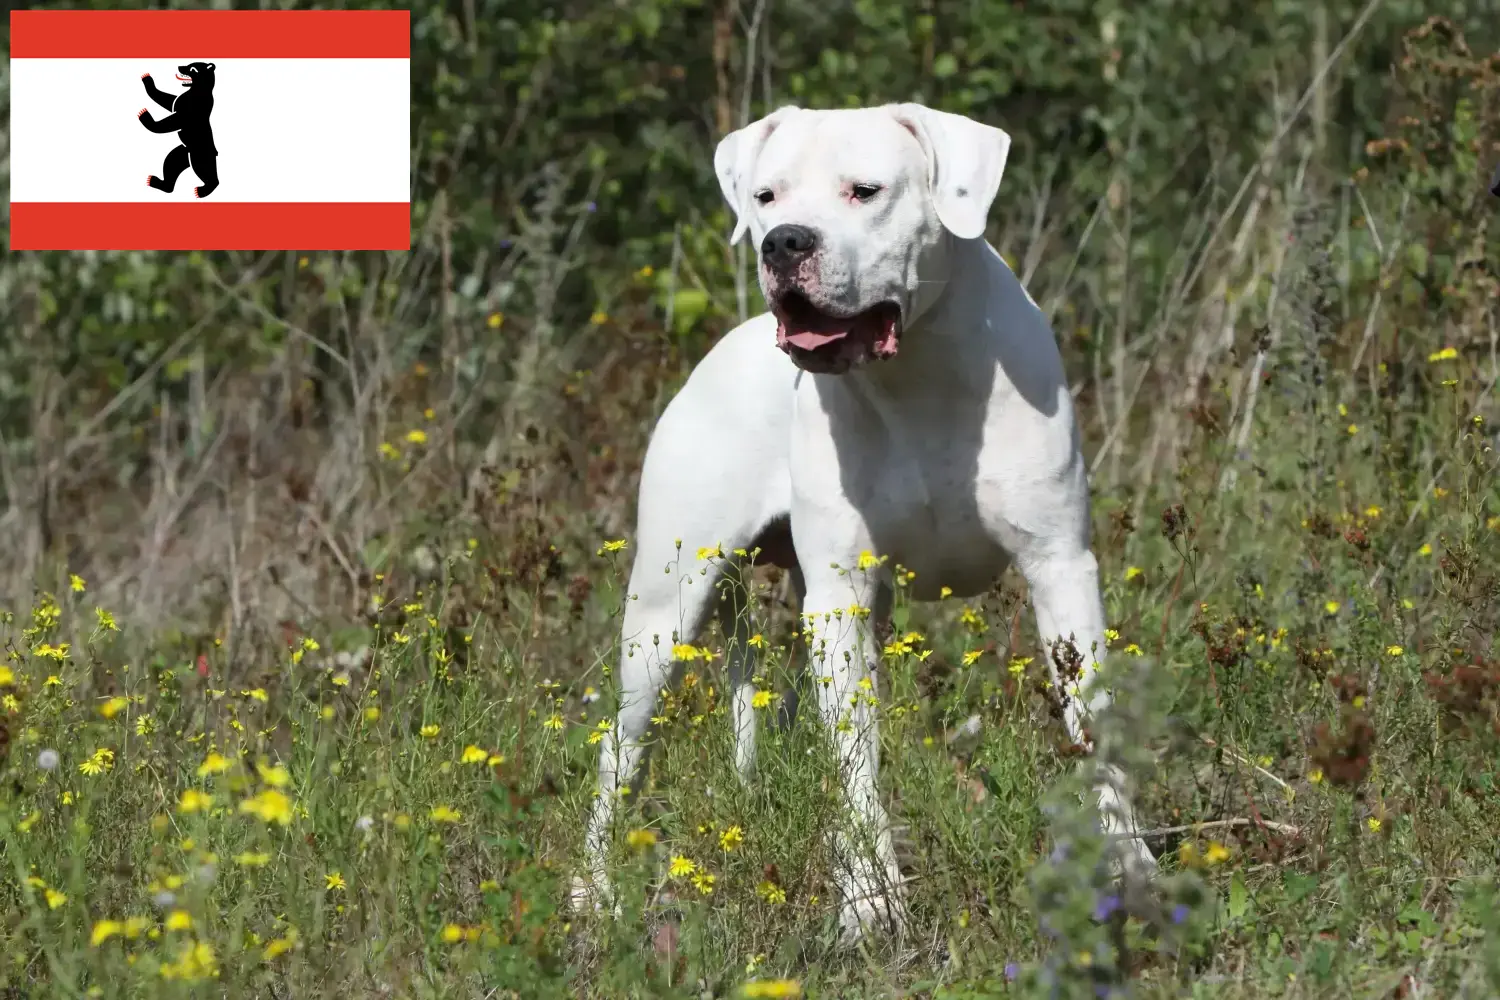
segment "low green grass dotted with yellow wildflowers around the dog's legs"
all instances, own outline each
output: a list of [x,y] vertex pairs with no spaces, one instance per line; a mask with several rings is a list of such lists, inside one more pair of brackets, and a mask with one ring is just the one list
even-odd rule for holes
[[[1286,411],[1266,435],[1302,436],[1316,477],[1246,477],[1170,513],[1170,531],[1126,531],[1100,501],[1114,663],[1160,663],[1149,697],[1172,717],[1128,733],[1160,757],[1148,822],[1251,820],[1158,841],[1168,871],[1197,868],[1214,892],[1173,958],[1131,918],[1122,958],[1144,994],[1182,978],[1202,996],[1374,997],[1414,975],[1460,996],[1482,993],[1482,963],[1494,975],[1496,687],[1460,699],[1454,729],[1424,675],[1467,663],[1455,651],[1491,628],[1500,522],[1488,436],[1460,402],[1478,373],[1426,369],[1432,438],[1458,439],[1442,486],[1396,478],[1384,459],[1401,442],[1348,432],[1378,414]],[[484,583],[483,543],[452,541],[444,583],[375,576],[363,624],[291,631],[237,676],[218,643],[186,654],[96,612],[82,580],[8,616],[0,975],[48,996],[686,997],[786,978],[807,996],[966,997],[1047,957],[1040,916],[1088,931],[1062,903],[1038,912],[1028,880],[1048,852],[1040,802],[1068,765],[1024,628],[1010,649],[1010,577],[970,606],[898,603],[920,637],[884,672],[882,778],[914,933],[848,952],[820,732],[771,729],[740,783],[714,664],[668,699],[652,780],[624,811],[621,918],[562,909],[628,549],[570,553],[598,583],[580,615],[513,598],[507,618],[483,609],[514,585]],[[766,613],[768,634],[784,616]],[[549,673],[528,636],[558,630],[597,658]],[[950,742],[970,715],[978,733]],[[1368,771],[1336,756],[1356,718],[1374,732]],[[676,858],[696,879],[669,874]]]

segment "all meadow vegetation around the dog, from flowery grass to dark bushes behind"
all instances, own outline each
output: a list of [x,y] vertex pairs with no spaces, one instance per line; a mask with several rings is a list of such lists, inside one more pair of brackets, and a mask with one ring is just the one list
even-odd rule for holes
[[[1500,993],[1494,9],[514,6],[414,15],[410,253],[6,258],[0,997]],[[1017,136],[1162,879],[1008,573],[897,588],[903,939],[837,946],[836,765],[736,778],[717,633],[576,916],[640,454],[758,309],[711,141],[909,97]]]

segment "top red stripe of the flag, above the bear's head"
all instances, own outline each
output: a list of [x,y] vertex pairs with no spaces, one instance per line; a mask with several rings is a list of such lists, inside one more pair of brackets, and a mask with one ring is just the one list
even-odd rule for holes
[[12,10],[10,58],[411,58],[411,10]]

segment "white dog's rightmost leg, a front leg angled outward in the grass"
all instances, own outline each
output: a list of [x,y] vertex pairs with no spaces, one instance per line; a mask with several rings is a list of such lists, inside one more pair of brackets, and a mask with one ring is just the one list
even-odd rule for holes
[[[1086,726],[1112,700],[1102,684],[1094,684],[1104,658],[1104,604],[1100,598],[1098,562],[1086,547],[1060,546],[1022,559],[1020,568],[1030,585],[1036,631],[1065,706],[1068,736],[1092,750]],[[1076,676],[1068,676],[1074,672]],[[1126,795],[1125,775],[1118,768],[1100,771],[1095,792],[1106,834],[1122,837],[1140,829]],[[1143,840],[1120,840],[1118,847],[1120,862],[1137,874],[1156,870],[1156,858]]]

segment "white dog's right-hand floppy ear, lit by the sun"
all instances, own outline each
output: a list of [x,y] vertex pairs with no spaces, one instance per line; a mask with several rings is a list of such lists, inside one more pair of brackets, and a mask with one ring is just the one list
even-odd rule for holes
[[960,240],[984,235],[1011,136],[962,114],[920,103],[892,105],[891,112],[927,153],[927,184],[944,228]]

